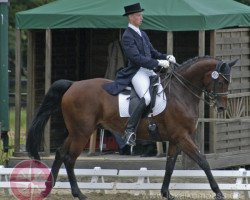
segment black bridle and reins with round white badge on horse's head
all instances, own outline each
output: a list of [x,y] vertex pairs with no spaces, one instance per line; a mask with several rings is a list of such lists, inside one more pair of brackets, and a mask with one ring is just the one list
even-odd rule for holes
[[[166,76],[162,79],[162,83],[164,83],[166,80],[168,80],[167,82],[165,82],[165,84],[163,84],[163,90],[166,89],[167,86],[170,87],[171,84],[169,84],[169,82],[171,81],[171,79],[173,77],[175,77],[179,83],[181,83],[181,85],[183,85],[188,91],[190,91],[195,97],[197,97],[198,99],[204,101],[205,103],[207,103],[209,106],[214,106],[216,104],[216,101],[218,99],[218,97],[221,96],[227,96],[228,95],[228,91],[226,92],[216,92],[216,88],[218,87],[219,84],[219,77],[221,76],[222,78],[224,78],[228,83],[230,82],[230,67],[228,66],[227,63],[220,61],[217,63],[215,71],[212,72],[211,74],[211,82],[213,84],[213,86],[211,88],[213,88],[213,90],[208,91],[207,89],[202,89],[199,88],[197,86],[195,86],[194,84],[192,84],[189,80],[187,80],[186,78],[184,78],[181,74],[179,74],[175,68],[179,67],[180,65],[178,63],[172,63],[172,70],[170,73],[166,74]],[[226,66],[224,66],[226,65]],[[228,70],[224,70],[224,71],[228,71],[228,73],[222,73],[222,66],[226,67]],[[204,98],[197,95],[198,93],[204,93]],[[207,100],[207,98],[209,99],[209,101]]]

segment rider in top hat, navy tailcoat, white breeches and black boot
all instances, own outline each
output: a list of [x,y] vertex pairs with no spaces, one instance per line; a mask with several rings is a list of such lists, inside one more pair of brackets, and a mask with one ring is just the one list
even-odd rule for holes
[[143,20],[142,11],[144,10],[140,3],[125,6],[124,10],[123,16],[128,17],[128,27],[123,33],[121,44],[128,59],[128,65],[117,72],[115,82],[104,85],[104,88],[110,94],[116,95],[132,83],[137,95],[141,98],[128,120],[123,137],[127,144],[134,146],[137,125],[144,109],[151,101],[148,90],[149,77],[156,75],[153,69],[157,66],[168,68],[169,61],[175,62],[175,57],[167,56],[155,50],[147,34],[139,29]]

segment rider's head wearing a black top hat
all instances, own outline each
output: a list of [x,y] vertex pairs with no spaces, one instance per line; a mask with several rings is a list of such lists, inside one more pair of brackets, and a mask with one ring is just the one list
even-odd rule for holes
[[144,9],[141,8],[140,3],[132,4],[124,7],[125,14],[123,16],[128,16],[129,23],[136,27],[139,27],[143,20]]

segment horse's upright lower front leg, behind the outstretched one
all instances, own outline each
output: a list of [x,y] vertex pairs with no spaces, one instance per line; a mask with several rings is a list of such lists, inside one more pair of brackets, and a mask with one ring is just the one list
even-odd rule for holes
[[167,162],[166,162],[166,169],[165,169],[165,176],[161,188],[161,194],[163,197],[167,198],[168,200],[173,200],[174,197],[169,192],[169,184],[170,179],[173,174],[174,166],[176,163],[176,159],[178,156],[178,149],[173,144],[169,144],[168,148],[168,156],[167,156]]

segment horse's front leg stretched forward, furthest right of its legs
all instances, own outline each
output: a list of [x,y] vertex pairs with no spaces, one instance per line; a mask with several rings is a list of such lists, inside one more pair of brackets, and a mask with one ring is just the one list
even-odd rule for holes
[[181,141],[181,150],[183,150],[184,153],[186,153],[192,160],[194,160],[199,167],[205,172],[207,175],[209,184],[213,192],[216,194],[215,199],[222,200],[224,199],[224,196],[217,184],[217,182],[214,179],[214,176],[211,172],[210,166],[205,158],[204,155],[202,155],[195,143],[191,138],[185,138]]

